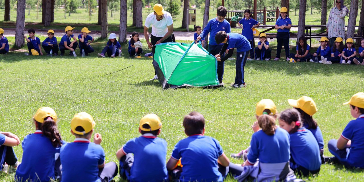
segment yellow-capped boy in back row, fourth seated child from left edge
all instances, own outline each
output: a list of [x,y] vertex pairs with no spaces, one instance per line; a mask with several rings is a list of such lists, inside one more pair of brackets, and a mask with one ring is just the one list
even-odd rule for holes
[[[71,26],[67,26],[64,29],[64,32],[66,32],[66,35],[63,35],[61,41],[59,42],[59,50],[61,51],[61,56],[64,55],[64,51],[67,49],[70,50],[70,56],[72,56],[72,52],[75,51],[75,49],[78,46],[77,39],[73,35],[73,29]],[[71,38],[73,41],[71,42]]]

